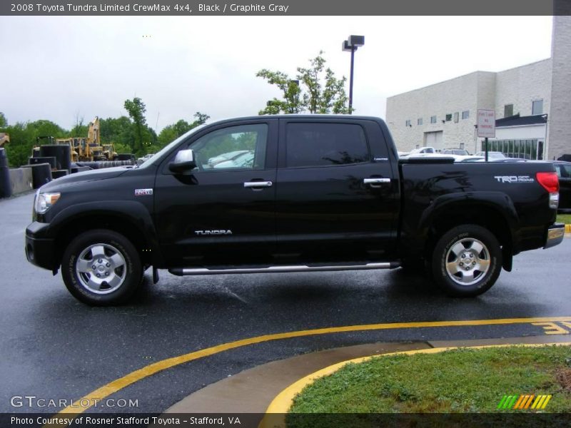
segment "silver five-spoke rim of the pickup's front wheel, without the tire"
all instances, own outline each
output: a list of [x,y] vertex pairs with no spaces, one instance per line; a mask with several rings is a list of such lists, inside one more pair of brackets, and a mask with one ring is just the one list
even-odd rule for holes
[[125,258],[113,245],[89,245],[76,261],[76,276],[81,285],[99,295],[121,287],[126,273]]

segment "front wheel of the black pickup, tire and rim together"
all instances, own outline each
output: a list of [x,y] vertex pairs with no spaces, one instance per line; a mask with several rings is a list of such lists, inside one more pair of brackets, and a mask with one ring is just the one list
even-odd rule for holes
[[[81,302],[113,306],[133,295],[141,283],[143,267],[135,247],[123,235],[106,229],[89,230],[66,248],[61,277],[69,292]],[[110,281],[106,282],[108,278]]]

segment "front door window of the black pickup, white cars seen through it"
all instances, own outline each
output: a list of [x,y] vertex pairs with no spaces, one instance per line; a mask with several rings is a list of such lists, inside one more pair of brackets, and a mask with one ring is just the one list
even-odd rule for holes
[[201,171],[257,170],[266,163],[268,126],[231,126],[213,131],[191,143]]

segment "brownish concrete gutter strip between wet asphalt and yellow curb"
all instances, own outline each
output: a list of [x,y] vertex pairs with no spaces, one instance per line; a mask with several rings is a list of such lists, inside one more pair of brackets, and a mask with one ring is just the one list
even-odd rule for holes
[[264,414],[283,389],[324,367],[346,360],[393,352],[441,347],[546,344],[568,342],[568,335],[544,335],[484,340],[438,340],[388,342],[335,348],[268,362],[199,389],[168,408],[168,413],[256,413]]

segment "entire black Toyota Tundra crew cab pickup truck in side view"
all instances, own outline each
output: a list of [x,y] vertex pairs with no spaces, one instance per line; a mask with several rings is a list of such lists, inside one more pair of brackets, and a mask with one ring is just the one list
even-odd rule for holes
[[552,165],[398,159],[359,116],[258,116],[195,128],[136,168],[43,185],[31,263],[91,305],[175,275],[428,266],[453,296],[488,290],[512,256],[560,243]]

